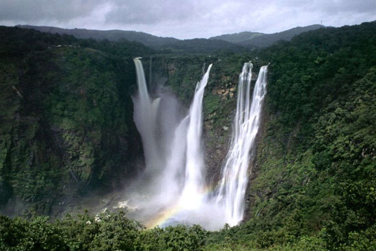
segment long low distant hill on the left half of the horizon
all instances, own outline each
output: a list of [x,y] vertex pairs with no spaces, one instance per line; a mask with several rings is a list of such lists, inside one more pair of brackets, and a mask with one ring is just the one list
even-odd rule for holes
[[119,29],[113,29],[109,31],[100,31],[96,29],[62,29],[58,27],[49,26],[33,26],[33,25],[17,25],[17,27],[25,29],[36,29],[42,32],[49,32],[51,34],[68,34],[75,36],[76,38],[88,39],[92,38],[95,40],[104,40],[118,42],[119,40],[126,39],[129,41],[142,42],[148,47],[158,48],[164,44],[170,44],[179,41],[176,38],[161,38],[158,36],[153,36],[144,32],[139,31],[122,31]]

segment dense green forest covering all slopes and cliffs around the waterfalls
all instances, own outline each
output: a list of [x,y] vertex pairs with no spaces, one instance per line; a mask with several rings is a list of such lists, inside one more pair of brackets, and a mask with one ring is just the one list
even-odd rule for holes
[[[308,31],[252,52],[181,58],[126,40],[0,28],[0,207],[7,215],[23,203],[36,211],[0,216],[1,250],[376,250],[376,22]],[[230,124],[229,90],[241,64],[271,62],[239,226],[146,230],[122,211],[40,216],[54,211],[62,195],[55,191],[111,190],[135,171],[132,157],[142,149],[131,58],[139,55],[155,57],[153,67],[183,100],[202,62],[217,62],[204,97],[214,148],[226,142],[216,128]]]

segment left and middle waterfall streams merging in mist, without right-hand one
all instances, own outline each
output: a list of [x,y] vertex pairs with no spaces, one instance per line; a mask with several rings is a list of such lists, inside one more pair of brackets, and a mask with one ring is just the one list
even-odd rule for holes
[[[204,199],[202,100],[212,65],[197,83],[189,111],[182,112],[180,103],[170,92],[157,87],[150,95],[142,62],[139,59],[134,62],[138,85],[137,95],[133,96],[134,120],[142,137],[146,168],[129,194],[137,197],[135,207],[144,208],[146,221],[149,215],[163,214],[177,207],[181,213],[174,220],[188,222],[191,216],[186,215],[187,211],[197,209]],[[139,200],[141,197],[148,200]],[[126,199],[133,201],[133,198]]]

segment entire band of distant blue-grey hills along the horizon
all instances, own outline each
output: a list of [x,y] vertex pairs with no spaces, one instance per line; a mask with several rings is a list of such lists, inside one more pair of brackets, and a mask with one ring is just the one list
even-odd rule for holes
[[162,38],[139,31],[122,31],[118,29],[101,31],[96,29],[62,29],[58,27],[17,25],[25,29],[36,29],[51,34],[67,34],[76,38],[94,40],[109,40],[118,42],[120,40],[129,40],[142,42],[142,44],[152,49],[162,49],[174,53],[213,53],[220,50],[231,50],[239,52],[245,47],[254,49],[254,47],[269,47],[278,40],[291,40],[293,36],[305,31],[319,29],[323,25],[310,25],[306,27],[295,27],[275,34],[263,34],[259,32],[244,31],[238,34],[224,34],[209,39],[195,38],[189,40],[179,40],[177,38]]

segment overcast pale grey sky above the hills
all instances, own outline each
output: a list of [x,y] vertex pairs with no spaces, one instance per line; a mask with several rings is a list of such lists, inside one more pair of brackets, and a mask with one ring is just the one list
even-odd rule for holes
[[376,0],[0,0],[0,25],[123,29],[174,38],[376,20]]

